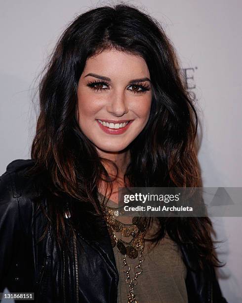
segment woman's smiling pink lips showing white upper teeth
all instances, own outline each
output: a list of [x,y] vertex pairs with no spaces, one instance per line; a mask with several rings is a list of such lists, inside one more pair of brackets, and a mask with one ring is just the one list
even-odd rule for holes
[[114,120],[96,120],[100,128],[108,134],[111,135],[120,135],[124,133],[133,120],[121,120],[119,123],[114,123]]

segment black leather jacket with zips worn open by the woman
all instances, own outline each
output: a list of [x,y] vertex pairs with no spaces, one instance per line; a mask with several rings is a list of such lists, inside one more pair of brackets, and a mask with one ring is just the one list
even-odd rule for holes
[[[33,186],[23,178],[34,160],[15,160],[0,177],[0,292],[34,292],[41,303],[115,303],[119,273],[107,226],[106,236],[90,241],[78,234],[70,239],[70,255],[59,252],[49,229],[43,241],[44,215],[36,212]],[[46,206],[46,200],[43,200]],[[81,258],[80,248],[83,248]],[[226,303],[213,268],[197,269],[197,262],[181,247],[188,268],[189,303]]]

